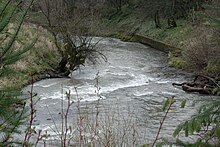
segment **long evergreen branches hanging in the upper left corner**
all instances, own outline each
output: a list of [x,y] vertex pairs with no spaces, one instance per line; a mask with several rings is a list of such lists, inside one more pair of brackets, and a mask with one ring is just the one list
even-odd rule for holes
[[[25,11],[21,11],[19,9],[19,5],[21,5],[22,1],[17,2],[16,4],[12,4],[12,1],[1,1],[1,3],[3,7],[0,7],[0,75],[6,66],[14,64],[16,61],[21,59],[22,55],[30,50],[36,42],[36,39],[34,39],[31,43],[20,48],[16,48],[14,46],[16,37],[28,9]],[[12,19],[13,24],[15,24],[15,28],[13,28],[11,32],[9,25]]]

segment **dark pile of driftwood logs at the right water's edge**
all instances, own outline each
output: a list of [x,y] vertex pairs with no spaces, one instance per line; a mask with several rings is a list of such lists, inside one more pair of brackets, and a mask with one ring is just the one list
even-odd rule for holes
[[181,87],[186,92],[197,92],[200,94],[213,94],[215,88],[220,88],[215,78],[204,75],[196,75],[192,82],[172,83],[172,85]]

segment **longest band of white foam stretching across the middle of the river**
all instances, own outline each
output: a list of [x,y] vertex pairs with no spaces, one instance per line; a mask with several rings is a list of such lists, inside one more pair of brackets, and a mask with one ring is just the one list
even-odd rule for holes
[[[118,76],[126,76],[124,73],[114,73],[113,75],[118,75]],[[135,74],[130,74],[132,77],[130,80],[127,82],[124,81],[119,81],[113,84],[109,84],[107,86],[101,86],[99,90],[99,94],[104,94],[104,93],[110,93],[113,91],[116,91],[118,89],[122,88],[128,88],[128,87],[137,87],[137,86],[144,86],[148,85],[150,81],[155,81],[157,80],[156,78],[151,78],[146,75],[135,75]],[[101,83],[102,81],[100,81]],[[94,80],[95,83],[95,80]],[[97,88],[95,85],[92,83],[83,83],[84,85],[82,86],[65,86],[63,87],[63,90],[55,91],[53,93],[40,93],[40,99],[45,100],[45,99],[65,99],[66,98],[66,92],[70,91],[71,98],[74,100],[77,100],[77,96],[82,99],[82,101],[96,101],[99,99],[97,96]],[[53,86],[53,84],[51,84]]]

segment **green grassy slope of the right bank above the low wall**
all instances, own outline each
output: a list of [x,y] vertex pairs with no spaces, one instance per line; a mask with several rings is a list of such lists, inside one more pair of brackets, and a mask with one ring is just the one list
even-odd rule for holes
[[219,56],[219,21],[218,19],[216,21],[219,17],[219,9],[217,8],[218,2],[204,5],[203,10],[192,11],[187,18],[176,19],[177,27],[173,28],[168,27],[167,19],[161,18],[161,27],[156,28],[154,21],[145,18],[143,12],[132,12],[125,6],[121,13],[105,17],[102,20],[102,29],[98,33],[125,41],[131,39],[126,34],[135,33],[164,42],[182,50],[181,55],[176,55],[175,52],[169,53],[171,66],[215,76],[220,72],[219,60],[213,60],[214,55],[211,55],[217,52],[215,56]]

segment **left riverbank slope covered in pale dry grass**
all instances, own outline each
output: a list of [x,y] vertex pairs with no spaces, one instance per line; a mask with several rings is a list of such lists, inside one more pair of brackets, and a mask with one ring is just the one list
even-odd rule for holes
[[[59,56],[53,37],[40,26],[24,24],[18,34],[16,45],[29,42],[34,37],[38,39],[33,48],[26,52],[21,60],[2,71],[0,89],[7,87],[23,88],[30,83],[32,75],[51,69],[58,63]],[[34,80],[39,80],[39,77],[34,77]]]

